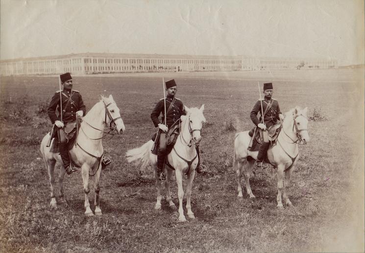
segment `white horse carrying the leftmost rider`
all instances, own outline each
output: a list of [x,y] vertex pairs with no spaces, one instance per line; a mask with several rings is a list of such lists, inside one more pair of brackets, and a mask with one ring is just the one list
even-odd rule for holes
[[[85,192],[85,215],[93,216],[93,212],[90,209],[89,197],[89,172],[95,175],[94,189],[95,189],[95,214],[101,215],[101,209],[99,204],[99,178],[101,173],[101,160],[104,155],[104,149],[101,143],[103,137],[104,127],[107,126],[110,129],[116,129],[118,134],[125,131],[124,123],[120,114],[120,110],[117,104],[113,100],[113,96],[109,97],[101,96],[99,102],[97,102],[93,108],[82,118],[81,125],[79,127],[76,145],[70,150],[70,159],[74,164],[81,167],[82,181]],[[57,208],[56,198],[54,196],[54,166],[56,162],[62,164],[61,156],[59,153],[51,153],[50,148],[47,147],[49,141],[48,133],[42,140],[41,153],[46,163],[46,167],[49,173],[50,183],[50,205],[51,207]],[[58,182],[60,184],[60,200],[61,202],[67,202],[63,195],[63,179],[66,170],[62,168],[58,176]],[[94,176],[90,175],[90,176]]]

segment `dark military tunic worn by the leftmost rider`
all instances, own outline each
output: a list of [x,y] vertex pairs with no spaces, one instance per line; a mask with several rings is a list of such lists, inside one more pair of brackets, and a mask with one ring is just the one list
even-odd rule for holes
[[[49,115],[49,118],[54,124],[54,121],[61,120],[61,114],[60,114],[60,92],[57,91],[53,97],[52,100],[49,103],[49,107],[47,109],[47,113]],[[86,107],[84,105],[84,102],[82,101],[81,94],[78,91],[75,90],[63,90],[61,92],[62,95],[62,121],[64,123],[72,122],[76,120],[75,113],[77,111],[83,111],[84,115],[86,113]],[[58,116],[56,115],[56,110],[58,112]]]

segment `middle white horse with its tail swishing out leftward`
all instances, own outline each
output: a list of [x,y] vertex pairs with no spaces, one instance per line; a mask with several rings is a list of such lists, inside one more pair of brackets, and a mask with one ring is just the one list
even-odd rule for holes
[[[179,197],[179,221],[185,222],[186,218],[184,216],[183,210],[183,197],[184,190],[182,187],[182,176],[186,174],[188,176],[188,185],[186,187],[186,209],[188,211],[188,216],[192,219],[195,218],[191,207],[191,196],[192,196],[192,184],[195,177],[195,168],[198,164],[198,157],[195,150],[195,146],[199,145],[201,136],[200,131],[202,127],[202,122],[205,122],[205,117],[203,115],[204,105],[198,108],[187,108],[185,106],[185,111],[187,115],[181,116],[181,129],[180,134],[176,140],[176,143],[167,156],[169,164],[175,169],[176,182],[178,187],[178,197]],[[157,178],[157,156],[152,154],[151,148],[153,141],[149,140],[144,145],[139,148],[130,149],[126,152],[127,161],[133,162],[138,161],[141,164],[141,168],[145,168],[148,164],[154,168],[154,177],[157,186],[157,202],[155,205],[156,210],[161,209],[161,181]],[[175,204],[171,200],[170,194],[170,179],[172,176],[172,168],[165,166],[167,168],[167,180],[165,181],[166,188],[166,200],[169,202],[171,209],[176,209]]]

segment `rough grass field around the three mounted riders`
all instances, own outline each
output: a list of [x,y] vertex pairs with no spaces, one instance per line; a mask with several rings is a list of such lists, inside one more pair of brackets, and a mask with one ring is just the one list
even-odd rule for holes
[[[113,163],[101,175],[101,217],[84,216],[80,173],[64,181],[69,205],[49,207],[39,145],[51,127],[44,109],[58,89],[57,78],[1,77],[0,252],[364,251],[363,69],[166,73],[164,78],[176,80],[177,97],[188,107],[205,104],[200,149],[206,172],[193,184],[196,219],[177,223],[166,202],[154,210],[152,172],[141,176],[124,158],[155,131],[149,115],[162,97],[160,74],[73,79],[87,109],[100,94],[112,94],[126,127],[103,143]],[[258,81],[273,82],[283,112],[308,106],[315,119],[292,174],[293,208],[276,209],[273,169],[256,171],[251,179],[257,201],[237,198],[234,135],[253,126],[249,112],[259,97]],[[177,205],[175,181],[171,189]],[[94,195],[89,196],[93,209]]]

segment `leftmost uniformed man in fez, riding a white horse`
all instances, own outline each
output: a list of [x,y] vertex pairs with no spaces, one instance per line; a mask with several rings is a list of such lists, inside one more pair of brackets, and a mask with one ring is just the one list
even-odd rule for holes
[[[65,128],[68,124],[76,121],[76,116],[82,117],[85,115],[86,107],[82,101],[81,94],[72,89],[73,80],[70,73],[60,75],[60,84],[63,86],[63,90],[54,93],[49,103],[47,113],[52,124],[57,126],[60,156],[63,167],[67,174],[70,175],[74,171],[77,171],[77,169],[70,161]],[[57,114],[56,111],[58,112]]]

